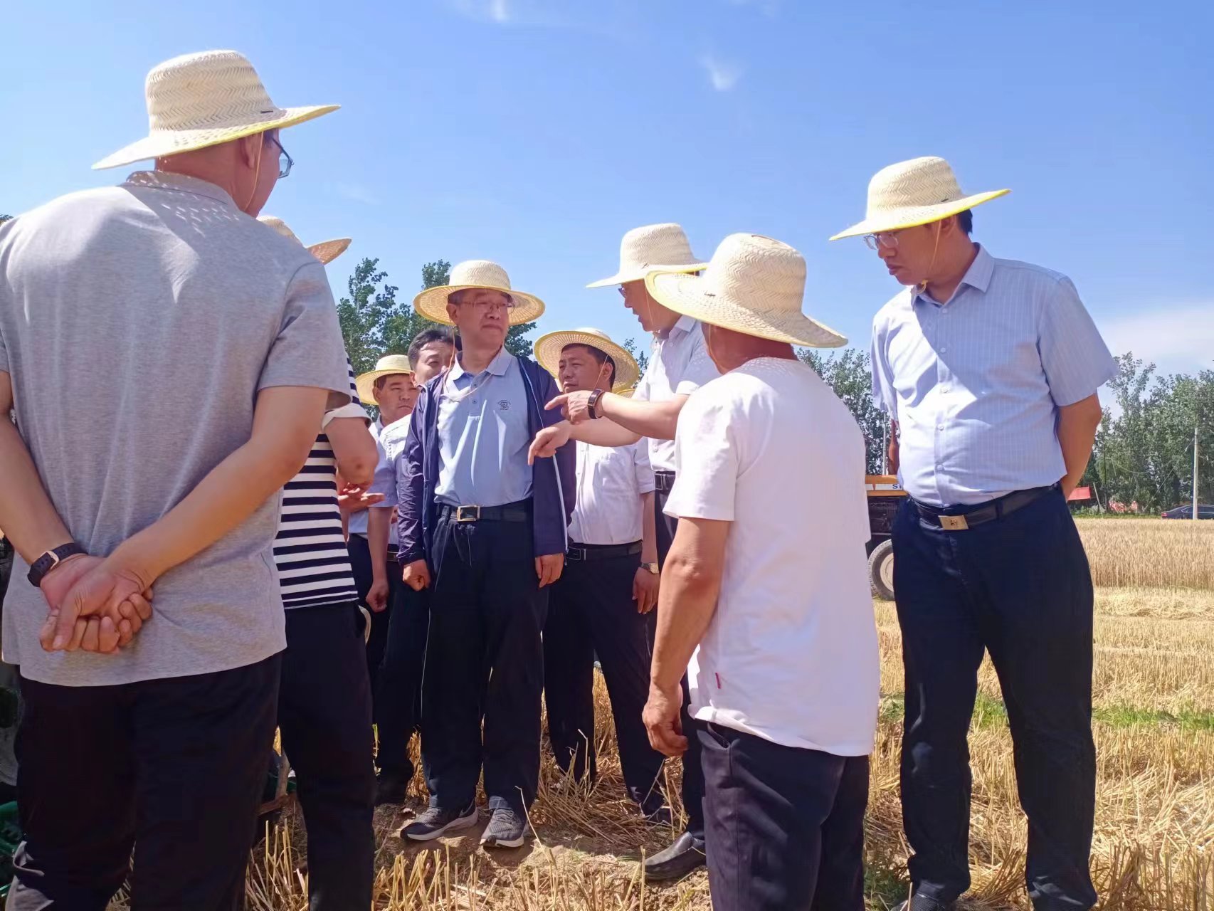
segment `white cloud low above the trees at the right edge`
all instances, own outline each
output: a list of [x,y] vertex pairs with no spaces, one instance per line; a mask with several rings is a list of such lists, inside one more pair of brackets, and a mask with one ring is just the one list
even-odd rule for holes
[[1214,302],[1144,307],[1104,321],[1101,332],[1114,355],[1133,351],[1159,373],[1214,369]]

